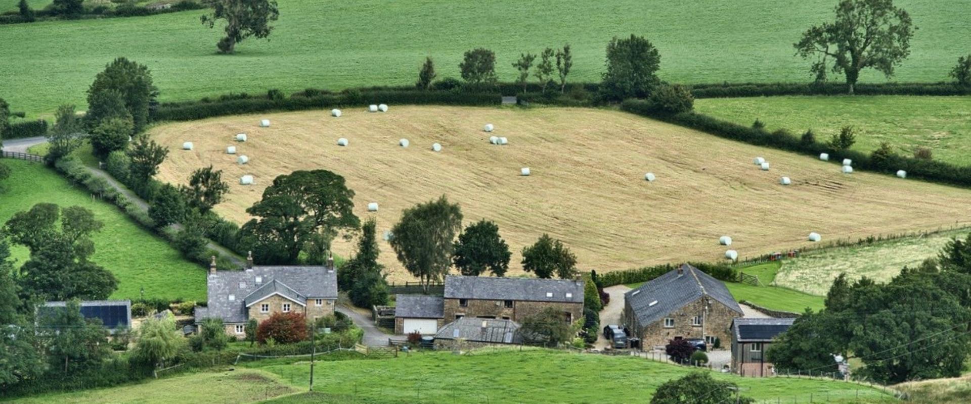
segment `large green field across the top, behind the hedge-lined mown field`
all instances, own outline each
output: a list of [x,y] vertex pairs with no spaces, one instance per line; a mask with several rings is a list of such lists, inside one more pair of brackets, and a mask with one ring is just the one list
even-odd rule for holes
[[[794,56],[792,44],[810,25],[831,18],[836,3],[294,0],[280,3],[269,42],[248,40],[229,56],[216,53],[221,32],[199,23],[202,11],[2,25],[0,53],[7,56],[0,59],[0,94],[31,115],[61,103],[81,107],[94,75],[117,56],[148,65],[162,101],[267,88],[411,84],[427,55],[440,78],[457,77],[462,52],[473,47],[495,50],[498,77],[511,81],[519,52],[565,43],[575,53],[570,79],[594,81],[603,72],[607,42],[631,33],[659,49],[660,76],[670,81],[808,81],[811,62]],[[948,79],[957,57],[968,52],[971,24],[963,16],[971,14],[971,3],[894,3],[920,28],[894,79]],[[873,71],[861,79],[885,80]]]

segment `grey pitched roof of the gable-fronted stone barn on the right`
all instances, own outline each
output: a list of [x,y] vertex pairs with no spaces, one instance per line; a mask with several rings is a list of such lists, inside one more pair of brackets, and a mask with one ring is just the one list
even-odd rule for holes
[[[684,271],[682,276],[678,275],[679,269]],[[704,295],[743,314],[735,297],[723,283],[688,264],[683,264],[680,268],[658,276],[623,295],[641,326],[652,324]]]

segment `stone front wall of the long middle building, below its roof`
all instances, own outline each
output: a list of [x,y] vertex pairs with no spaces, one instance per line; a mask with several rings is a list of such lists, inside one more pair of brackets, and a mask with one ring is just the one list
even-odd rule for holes
[[[521,322],[523,319],[533,316],[547,307],[555,307],[562,312],[569,312],[573,321],[577,321],[584,315],[584,303],[566,303],[550,301],[525,301],[514,300],[513,307],[506,307],[505,300],[484,300],[467,299],[467,306],[463,307],[457,298],[445,299],[445,322],[452,323],[456,315],[463,317],[494,317],[496,319],[509,319],[514,322]],[[564,314],[564,321],[566,316]]]

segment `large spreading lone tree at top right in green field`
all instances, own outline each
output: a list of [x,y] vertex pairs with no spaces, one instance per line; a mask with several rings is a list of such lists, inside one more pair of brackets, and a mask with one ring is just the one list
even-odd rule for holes
[[863,69],[893,76],[893,68],[910,54],[915,29],[910,15],[893,7],[892,0],[841,0],[833,22],[810,27],[793,47],[803,58],[823,57],[814,65],[818,76],[825,69],[825,57],[832,58],[833,72],[846,75],[849,92],[854,94]]

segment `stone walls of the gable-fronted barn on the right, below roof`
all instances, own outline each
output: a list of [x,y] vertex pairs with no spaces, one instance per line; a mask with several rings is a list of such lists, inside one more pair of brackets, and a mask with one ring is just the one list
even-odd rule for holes
[[[694,326],[692,324],[693,318],[704,314],[704,299],[705,297],[699,297],[665,316],[674,319],[673,327],[665,327],[664,318],[649,325],[638,325],[629,305],[624,308],[623,318],[627,325],[633,325],[632,331],[641,338],[641,346],[646,350],[655,346],[667,345],[668,341],[675,337],[704,338],[705,336],[713,337],[713,340],[716,337],[719,338],[721,347],[726,348],[731,343],[731,329],[729,328],[731,322],[737,317],[742,317],[742,314],[713,298],[708,314],[704,316],[703,326]],[[702,333],[702,329],[704,329],[704,333]],[[709,349],[713,348],[714,344],[709,343]]]

